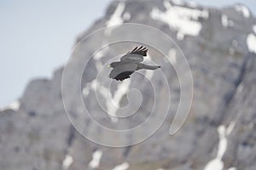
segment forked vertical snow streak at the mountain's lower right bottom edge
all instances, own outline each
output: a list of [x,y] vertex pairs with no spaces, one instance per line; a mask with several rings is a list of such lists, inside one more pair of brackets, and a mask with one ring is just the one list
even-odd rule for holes
[[[225,127],[224,125],[220,125],[218,127],[218,152],[217,156],[207,163],[207,166],[204,168],[205,170],[223,170],[224,162],[222,158],[224,156],[225,151],[228,146],[227,136],[230,135],[234,127],[236,126],[236,122],[230,122],[229,127]],[[235,168],[236,167],[231,167]]]

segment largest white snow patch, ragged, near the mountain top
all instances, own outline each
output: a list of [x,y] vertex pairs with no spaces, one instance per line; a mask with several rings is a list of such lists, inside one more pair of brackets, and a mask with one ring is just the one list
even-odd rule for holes
[[182,40],[184,36],[198,36],[201,31],[199,18],[207,19],[207,10],[172,6],[170,2],[164,1],[166,11],[153,8],[150,16],[154,20],[165,22],[171,30],[177,31],[177,38]]

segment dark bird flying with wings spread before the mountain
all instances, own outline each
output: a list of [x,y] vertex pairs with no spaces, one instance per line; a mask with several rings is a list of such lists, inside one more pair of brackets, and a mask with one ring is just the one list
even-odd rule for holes
[[141,69],[155,70],[160,68],[156,65],[144,65],[141,63],[143,57],[146,57],[148,49],[141,46],[140,48],[136,47],[131,52],[123,55],[118,62],[113,62],[108,67],[112,67],[113,70],[109,74],[109,78],[115,80],[123,81],[127,78],[130,78],[131,74],[135,71]]

